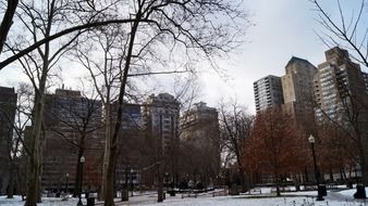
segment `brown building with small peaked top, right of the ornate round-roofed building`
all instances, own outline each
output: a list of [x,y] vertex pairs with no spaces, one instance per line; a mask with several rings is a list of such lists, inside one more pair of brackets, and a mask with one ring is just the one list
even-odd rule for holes
[[[206,177],[201,182],[209,183],[209,179],[214,179],[220,170],[220,131],[218,112],[213,107],[207,106],[205,102],[194,104],[181,117],[181,142],[192,152],[187,158],[189,165],[186,166],[187,173],[196,175],[192,177],[198,179]],[[207,182],[206,182],[207,180]]]

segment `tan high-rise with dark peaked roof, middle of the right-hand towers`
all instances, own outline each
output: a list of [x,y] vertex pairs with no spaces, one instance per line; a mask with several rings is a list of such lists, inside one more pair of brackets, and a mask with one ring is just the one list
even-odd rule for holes
[[290,115],[296,126],[306,127],[314,121],[314,76],[317,68],[307,60],[293,56],[281,77],[283,90],[283,112]]

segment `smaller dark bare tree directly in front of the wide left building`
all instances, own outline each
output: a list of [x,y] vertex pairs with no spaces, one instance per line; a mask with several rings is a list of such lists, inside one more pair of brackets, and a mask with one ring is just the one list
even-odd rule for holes
[[[58,91],[58,90],[57,90]],[[64,92],[60,90],[60,92]],[[76,91],[74,91],[75,93]],[[46,111],[45,114],[45,130],[48,132],[46,140],[47,142],[62,142],[63,146],[58,146],[60,150],[57,152],[57,149],[53,151],[45,151],[46,154],[62,155],[60,153],[65,152],[65,146],[73,146],[76,152],[75,158],[75,182],[73,195],[76,196],[79,193],[81,185],[81,172],[82,164],[79,162],[82,156],[86,156],[88,159],[91,155],[88,154],[88,151],[94,151],[95,159],[98,159],[98,151],[102,151],[102,147],[99,147],[100,142],[99,138],[102,138],[100,130],[102,129],[102,105],[101,102],[97,100],[97,95],[93,98],[87,98],[85,94],[79,95],[79,92],[76,92],[75,95],[65,96],[63,94],[47,95],[46,98]],[[94,94],[93,94],[94,95]],[[68,99],[68,100],[65,100]],[[97,140],[93,139],[93,136],[99,137]],[[59,140],[52,139],[56,137]],[[96,143],[96,141],[98,143]],[[66,145],[65,145],[66,143]],[[102,153],[100,153],[102,154]],[[70,154],[69,154],[70,155]],[[51,156],[51,155],[46,155]],[[90,159],[90,158],[89,158]],[[93,162],[90,159],[88,162]],[[98,167],[94,168],[94,171],[98,170]],[[89,172],[90,173],[90,172]]]

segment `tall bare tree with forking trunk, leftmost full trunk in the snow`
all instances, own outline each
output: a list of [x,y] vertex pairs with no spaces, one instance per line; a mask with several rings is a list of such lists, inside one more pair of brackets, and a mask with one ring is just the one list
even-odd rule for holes
[[[42,8],[37,3],[21,1],[21,11],[16,13],[17,18],[23,22],[24,29],[29,34],[30,41],[37,42],[39,37],[47,38],[51,35],[57,25],[62,26],[62,12],[65,4],[59,4],[56,0],[48,1],[48,7]],[[32,22],[32,24],[28,24]],[[34,103],[34,117],[33,117],[33,132],[29,140],[29,175],[28,177],[28,190],[27,199],[25,205],[36,205],[39,199],[40,192],[40,172],[41,172],[41,153],[42,153],[42,116],[45,105],[45,93],[47,89],[47,79],[50,78],[50,69],[56,67],[56,63],[60,60],[60,56],[66,51],[66,49],[75,40],[74,38],[66,40],[57,50],[51,49],[51,44],[45,43],[44,48],[38,48],[37,52],[28,53],[26,56],[19,59],[24,73],[28,76],[34,90],[35,90],[35,103]],[[23,43],[27,43],[27,39],[19,39]],[[11,46],[11,43],[13,43]],[[22,43],[11,42],[8,48],[16,53],[19,47]],[[38,196],[38,198],[37,198]]]

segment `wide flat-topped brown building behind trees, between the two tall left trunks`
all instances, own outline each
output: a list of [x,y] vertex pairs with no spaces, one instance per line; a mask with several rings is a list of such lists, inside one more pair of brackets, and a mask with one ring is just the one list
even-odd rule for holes
[[44,190],[64,190],[66,173],[69,189],[74,190],[81,145],[86,159],[83,189],[97,190],[100,186],[105,145],[101,117],[101,102],[84,98],[79,91],[57,89],[54,94],[46,95]]

